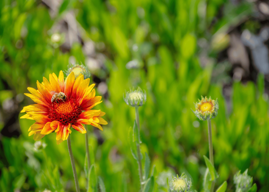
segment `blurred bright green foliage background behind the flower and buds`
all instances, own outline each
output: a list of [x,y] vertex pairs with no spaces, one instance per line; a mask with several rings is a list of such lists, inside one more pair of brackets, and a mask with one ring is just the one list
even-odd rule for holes
[[[140,86],[141,150],[155,165],[154,191],[185,172],[202,191],[207,122],[192,113],[201,95],[218,98],[212,120],[216,186],[249,168],[258,191],[269,189],[269,6],[240,0],[0,1],[0,191],[75,191],[67,142],[56,134],[34,149],[19,119],[33,104],[36,81],[83,63],[106,112],[104,131],[90,127],[91,162],[107,191],[139,191],[128,144],[134,108],[123,93]],[[86,191],[84,135],[71,134],[81,191]],[[143,160],[144,161],[144,158]]]

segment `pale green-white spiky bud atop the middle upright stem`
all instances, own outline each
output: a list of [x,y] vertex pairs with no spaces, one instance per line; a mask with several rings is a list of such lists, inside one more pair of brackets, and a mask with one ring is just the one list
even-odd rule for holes
[[136,106],[142,106],[145,104],[147,100],[147,93],[146,91],[138,87],[137,90],[130,89],[129,91],[125,91],[125,97],[123,94],[123,100],[125,103],[129,106],[136,107]]

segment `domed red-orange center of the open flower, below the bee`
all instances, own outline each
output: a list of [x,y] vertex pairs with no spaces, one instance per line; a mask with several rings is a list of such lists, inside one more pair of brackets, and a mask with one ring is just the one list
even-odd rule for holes
[[69,123],[73,124],[77,121],[78,116],[82,113],[80,105],[73,98],[66,98],[63,102],[58,100],[51,104],[49,107],[48,117],[52,121],[59,121],[62,124],[68,125]]

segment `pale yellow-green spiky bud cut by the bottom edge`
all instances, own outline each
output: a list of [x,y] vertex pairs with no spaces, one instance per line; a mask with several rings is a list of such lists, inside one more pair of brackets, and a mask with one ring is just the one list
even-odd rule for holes
[[192,186],[192,181],[187,179],[184,173],[179,177],[173,177],[173,179],[169,182],[169,188],[171,192],[185,192],[189,191]]

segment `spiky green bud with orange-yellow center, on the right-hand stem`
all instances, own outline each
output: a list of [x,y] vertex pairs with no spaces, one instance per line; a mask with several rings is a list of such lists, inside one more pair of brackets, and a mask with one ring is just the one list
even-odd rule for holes
[[199,102],[194,103],[195,111],[192,112],[198,117],[200,120],[208,120],[217,117],[218,115],[218,98],[216,100],[209,99],[207,97],[202,97],[202,100],[198,99]]

